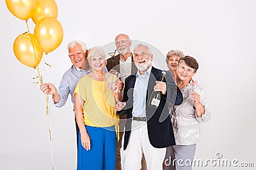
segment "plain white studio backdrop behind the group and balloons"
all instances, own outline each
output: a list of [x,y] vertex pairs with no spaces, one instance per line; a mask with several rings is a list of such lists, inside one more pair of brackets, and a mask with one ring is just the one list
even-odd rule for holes
[[[195,159],[216,159],[216,153],[221,152],[223,159],[254,162],[256,166],[255,1],[56,0],[56,3],[64,38],[49,53],[47,63],[52,68],[40,64],[44,81],[59,85],[63,73],[71,66],[66,47],[74,39],[86,42],[91,48],[110,43],[116,35],[125,33],[156,46],[164,55],[170,49],[180,49],[198,60],[196,79],[205,90],[212,113],[212,119],[201,124]],[[4,1],[0,2],[0,11],[0,169],[51,169],[46,96],[39,85],[33,84],[36,71],[21,64],[12,50],[14,39],[27,31],[26,23],[14,17]],[[33,32],[35,24],[31,19],[29,25]],[[166,69],[164,62],[161,63]],[[54,169],[75,169],[76,136],[70,98],[60,109],[50,101],[50,112]],[[227,169],[195,167],[211,168]]]

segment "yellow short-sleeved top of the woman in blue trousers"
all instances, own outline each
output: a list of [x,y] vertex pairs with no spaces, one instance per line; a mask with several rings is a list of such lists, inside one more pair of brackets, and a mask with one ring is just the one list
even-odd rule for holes
[[74,94],[77,93],[84,100],[85,125],[110,127],[118,124],[115,95],[107,86],[108,81],[96,81],[87,75],[78,81]]

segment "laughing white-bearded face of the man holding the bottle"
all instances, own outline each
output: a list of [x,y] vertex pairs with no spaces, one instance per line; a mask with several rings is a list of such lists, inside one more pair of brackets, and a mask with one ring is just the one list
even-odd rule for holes
[[139,71],[145,71],[152,64],[153,55],[148,51],[147,46],[140,45],[134,49],[133,60]]

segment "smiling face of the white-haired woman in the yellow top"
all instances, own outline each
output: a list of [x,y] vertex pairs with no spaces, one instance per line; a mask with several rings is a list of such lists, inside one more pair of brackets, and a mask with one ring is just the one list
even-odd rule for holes
[[102,71],[106,66],[105,56],[97,50],[93,52],[91,56],[88,57],[88,63],[92,67],[92,71]]

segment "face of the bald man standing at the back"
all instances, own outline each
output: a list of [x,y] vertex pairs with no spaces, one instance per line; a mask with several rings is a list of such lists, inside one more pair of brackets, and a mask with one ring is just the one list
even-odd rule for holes
[[116,36],[115,43],[118,53],[125,55],[125,53],[131,52],[132,41],[129,36],[125,34],[119,34]]

